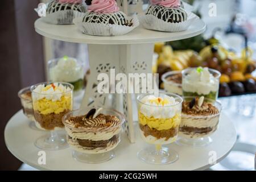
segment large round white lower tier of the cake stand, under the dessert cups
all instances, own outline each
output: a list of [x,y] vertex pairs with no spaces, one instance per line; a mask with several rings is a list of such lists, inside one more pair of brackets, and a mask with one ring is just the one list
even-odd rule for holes
[[[137,129],[137,124],[135,124]],[[137,131],[137,130],[136,130]],[[131,144],[122,135],[122,141],[115,149],[116,157],[106,163],[86,164],[72,158],[71,148],[59,151],[46,151],[46,165],[38,164],[38,148],[34,140],[45,131],[35,131],[28,127],[28,119],[20,110],[5,128],[5,142],[10,152],[23,163],[42,170],[203,170],[209,168],[209,152],[215,151],[217,163],[229,154],[236,142],[236,130],[232,121],[221,115],[220,125],[212,135],[213,143],[206,147],[186,147],[173,143],[170,145],[179,154],[179,160],[167,165],[153,165],[142,162],[137,158],[137,152],[146,144],[137,133],[137,142]]]

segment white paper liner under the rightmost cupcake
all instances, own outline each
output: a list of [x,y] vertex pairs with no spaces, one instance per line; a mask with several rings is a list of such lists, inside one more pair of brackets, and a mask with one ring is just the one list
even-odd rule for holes
[[188,19],[180,23],[168,23],[162,19],[158,19],[154,15],[140,15],[139,22],[142,26],[149,30],[157,30],[164,32],[180,32],[188,29],[189,26],[199,17],[191,12],[188,13]]

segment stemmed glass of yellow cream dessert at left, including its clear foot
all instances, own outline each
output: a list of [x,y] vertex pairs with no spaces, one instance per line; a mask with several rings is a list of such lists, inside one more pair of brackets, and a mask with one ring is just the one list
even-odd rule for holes
[[[35,90],[38,86],[46,88],[49,85],[59,85],[57,89],[62,85],[65,89],[58,93],[40,93]],[[31,86],[31,92],[36,126],[49,131],[35,140],[35,146],[43,150],[67,148],[65,134],[57,131],[64,129],[62,117],[73,108],[73,85],[65,82],[43,82]]]

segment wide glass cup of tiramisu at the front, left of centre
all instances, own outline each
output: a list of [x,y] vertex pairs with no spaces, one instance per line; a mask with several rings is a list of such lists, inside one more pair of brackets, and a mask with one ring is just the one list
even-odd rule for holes
[[[86,118],[90,111],[100,109],[96,118]],[[72,156],[83,163],[103,163],[114,158],[114,148],[121,141],[123,114],[113,109],[85,107],[64,115],[63,123],[67,131]]]

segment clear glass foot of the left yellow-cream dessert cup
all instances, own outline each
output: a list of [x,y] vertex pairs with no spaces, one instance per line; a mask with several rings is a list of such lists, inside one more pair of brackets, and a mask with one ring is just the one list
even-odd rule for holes
[[68,147],[66,135],[51,130],[35,141],[35,146],[45,150],[61,150]]

